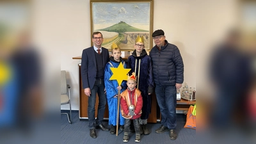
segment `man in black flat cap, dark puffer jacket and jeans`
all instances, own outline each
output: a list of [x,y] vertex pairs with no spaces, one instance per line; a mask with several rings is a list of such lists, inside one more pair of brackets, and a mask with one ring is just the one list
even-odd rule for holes
[[156,45],[149,56],[152,59],[156,98],[162,117],[162,125],[156,129],[156,133],[170,131],[170,139],[176,140],[177,89],[184,81],[184,65],[178,47],[168,43],[162,29],[154,31],[152,37]]

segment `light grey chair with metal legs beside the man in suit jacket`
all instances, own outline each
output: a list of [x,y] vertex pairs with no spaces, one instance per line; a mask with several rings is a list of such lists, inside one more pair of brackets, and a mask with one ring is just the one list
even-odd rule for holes
[[[65,70],[61,70],[61,105],[63,104],[69,104],[69,108],[70,108],[70,117],[68,116],[68,113],[61,113],[61,114],[65,114],[68,117],[68,122],[70,124],[72,124],[71,121],[71,97],[70,97],[70,85],[67,84],[67,79],[66,79],[66,71]],[[67,93],[68,92],[68,93]],[[68,94],[68,95],[67,95]]]

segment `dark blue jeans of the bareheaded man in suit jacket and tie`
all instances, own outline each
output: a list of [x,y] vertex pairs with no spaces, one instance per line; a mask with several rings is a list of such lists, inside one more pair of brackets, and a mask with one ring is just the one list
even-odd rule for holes
[[[104,79],[97,79],[91,90],[91,96],[88,97],[88,121],[90,129],[95,129],[96,125],[102,124],[105,108],[106,108],[106,95],[104,92]],[[97,111],[97,119],[95,120],[95,102],[96,102],[96,93],[99,97],[99,105]]]

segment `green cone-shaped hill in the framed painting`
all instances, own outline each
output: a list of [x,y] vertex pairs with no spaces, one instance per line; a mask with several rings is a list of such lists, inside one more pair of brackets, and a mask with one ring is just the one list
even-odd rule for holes
[[143,29],[138,29],[126,24],[123,21],[120,21],[118,24],[114,24],[113,26],[109,26],[104,29],[97,29],[97,31],[111,31],[116,33],[124,33],[124,32],[134,32],[134,31],[146,31]]

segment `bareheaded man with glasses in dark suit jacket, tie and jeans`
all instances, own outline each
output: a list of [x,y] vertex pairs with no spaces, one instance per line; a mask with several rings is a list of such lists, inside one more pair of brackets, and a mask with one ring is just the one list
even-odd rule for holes
[[[84,94],[88,96],[88,121],[90,136],[97,138],[95,128],[109,131],[102,125],[106,106],[106,95],[104,86],[104,69],[109,61],[108,49],[101,47],[103,42],[102,33],[96,31],[92,35],[93,46],[83,50],[81,62],[81,75]],[[97,119],[95,120],[96,93],[99,96]]]

